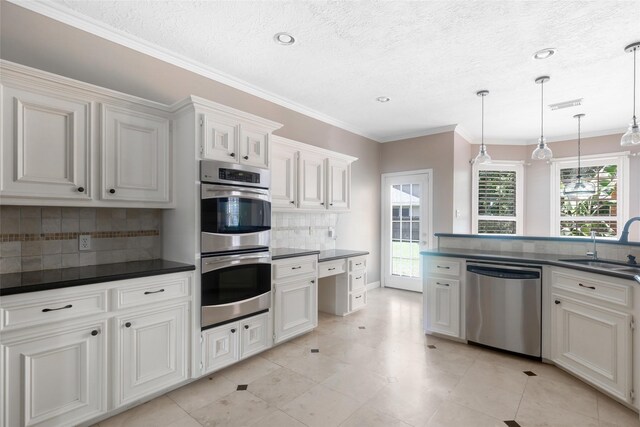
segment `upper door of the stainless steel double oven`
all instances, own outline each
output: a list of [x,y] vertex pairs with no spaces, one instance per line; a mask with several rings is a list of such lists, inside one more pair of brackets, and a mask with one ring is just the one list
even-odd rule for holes
[[238,235],[271,229],[268,190],[202,184],[203,233]]

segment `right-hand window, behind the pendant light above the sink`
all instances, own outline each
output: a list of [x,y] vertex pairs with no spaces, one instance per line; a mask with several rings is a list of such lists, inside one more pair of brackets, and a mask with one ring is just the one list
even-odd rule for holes
[[589,236],[615,238],[628,217],[628,169],[626,153],[582,158],[582,179],[591,182],[596,194],[586,200],[569,200],[564,186],[576,179],[576,158],[553,161],[551,179],[551,234],[555,236]]

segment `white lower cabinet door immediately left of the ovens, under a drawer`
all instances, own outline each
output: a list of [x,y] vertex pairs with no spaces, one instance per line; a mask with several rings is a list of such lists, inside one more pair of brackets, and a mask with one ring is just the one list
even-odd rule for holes
[[187,304],[115,319],[116,406],[187,379]]

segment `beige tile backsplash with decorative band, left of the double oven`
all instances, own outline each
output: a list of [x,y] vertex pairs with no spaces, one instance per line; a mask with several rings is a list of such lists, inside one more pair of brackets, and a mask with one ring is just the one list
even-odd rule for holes
[[[0,273],[162,256],[159,209],[0,207]],[[79,251],[78,236],[91,236]]]

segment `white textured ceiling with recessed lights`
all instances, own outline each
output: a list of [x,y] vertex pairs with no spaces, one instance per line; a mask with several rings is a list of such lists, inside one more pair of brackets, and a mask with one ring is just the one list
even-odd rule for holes
[[[479,140],[531,143],[545,104],[550,139],[623,132],[631,118],[636,1],[65,1],[100,21],[378,141],[459,124]],[[293,46],[273,35],[287,31]],[[542,48],[556,55],[533,60]],[[382,104],[378,96],[391,101]]]

